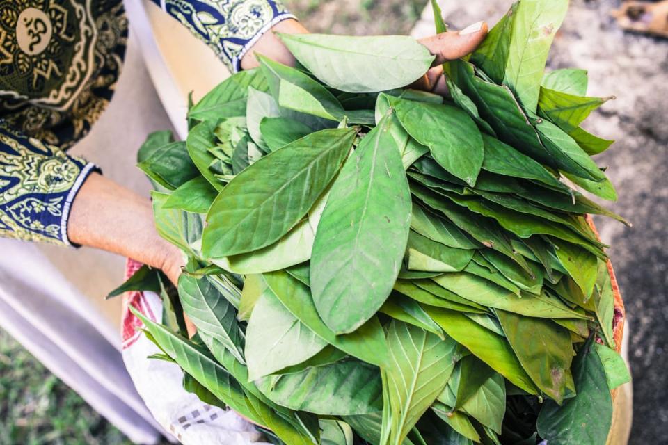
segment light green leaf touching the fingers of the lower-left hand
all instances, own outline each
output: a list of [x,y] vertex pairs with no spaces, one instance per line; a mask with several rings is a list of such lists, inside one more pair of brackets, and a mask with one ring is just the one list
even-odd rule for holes
[[158,234],[184,252],[200,257],[203,216],[178,209],[165,209],[168,197],[167,193],[151,191],[153,218]]

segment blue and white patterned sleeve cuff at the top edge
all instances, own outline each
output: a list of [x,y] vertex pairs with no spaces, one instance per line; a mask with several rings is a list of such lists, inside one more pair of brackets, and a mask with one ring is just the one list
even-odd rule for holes
[[230,72],[262,34],[294,15],[280,0],[151,0],[179,20],[218,55]]

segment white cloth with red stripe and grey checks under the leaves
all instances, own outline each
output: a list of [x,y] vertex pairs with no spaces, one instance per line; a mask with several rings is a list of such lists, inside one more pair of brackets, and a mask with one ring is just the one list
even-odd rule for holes
[[[128,260],[126,278],[140,267],[136,261]],[[152,292],[128,292],[123,296],[123,360],[158,423],[184,445],[270,445],[262,442],[260,433],[237,413],[208,405],[185,391],[183,372],[177,365],[148,358],[160,350],[146,338],[143,323],[129,311],[131,306],[159,322],[162,301]]]

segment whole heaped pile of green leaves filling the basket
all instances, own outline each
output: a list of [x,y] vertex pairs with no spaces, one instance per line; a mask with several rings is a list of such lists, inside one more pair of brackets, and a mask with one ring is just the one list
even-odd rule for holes
[[260,57],[186,141],[152,134],[189,257],[173,319],[144,320],[157,357],[277,443],[605,443],[629,376],[586,214],[623,219],[568,185],[616,197],[580,127],[606,99],[543,73],[567,3],[515,3],[446,99],[406,87],[434,60],[411,38],[281,35],[298,67]]

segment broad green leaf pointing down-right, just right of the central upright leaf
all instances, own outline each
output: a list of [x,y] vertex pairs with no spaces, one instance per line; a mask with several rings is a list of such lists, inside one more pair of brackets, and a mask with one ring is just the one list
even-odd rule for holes
[[447,172],[475,184],[484,156],[482,136],[475,122],[459,108],[390,98],[397,118],[417,142]]

